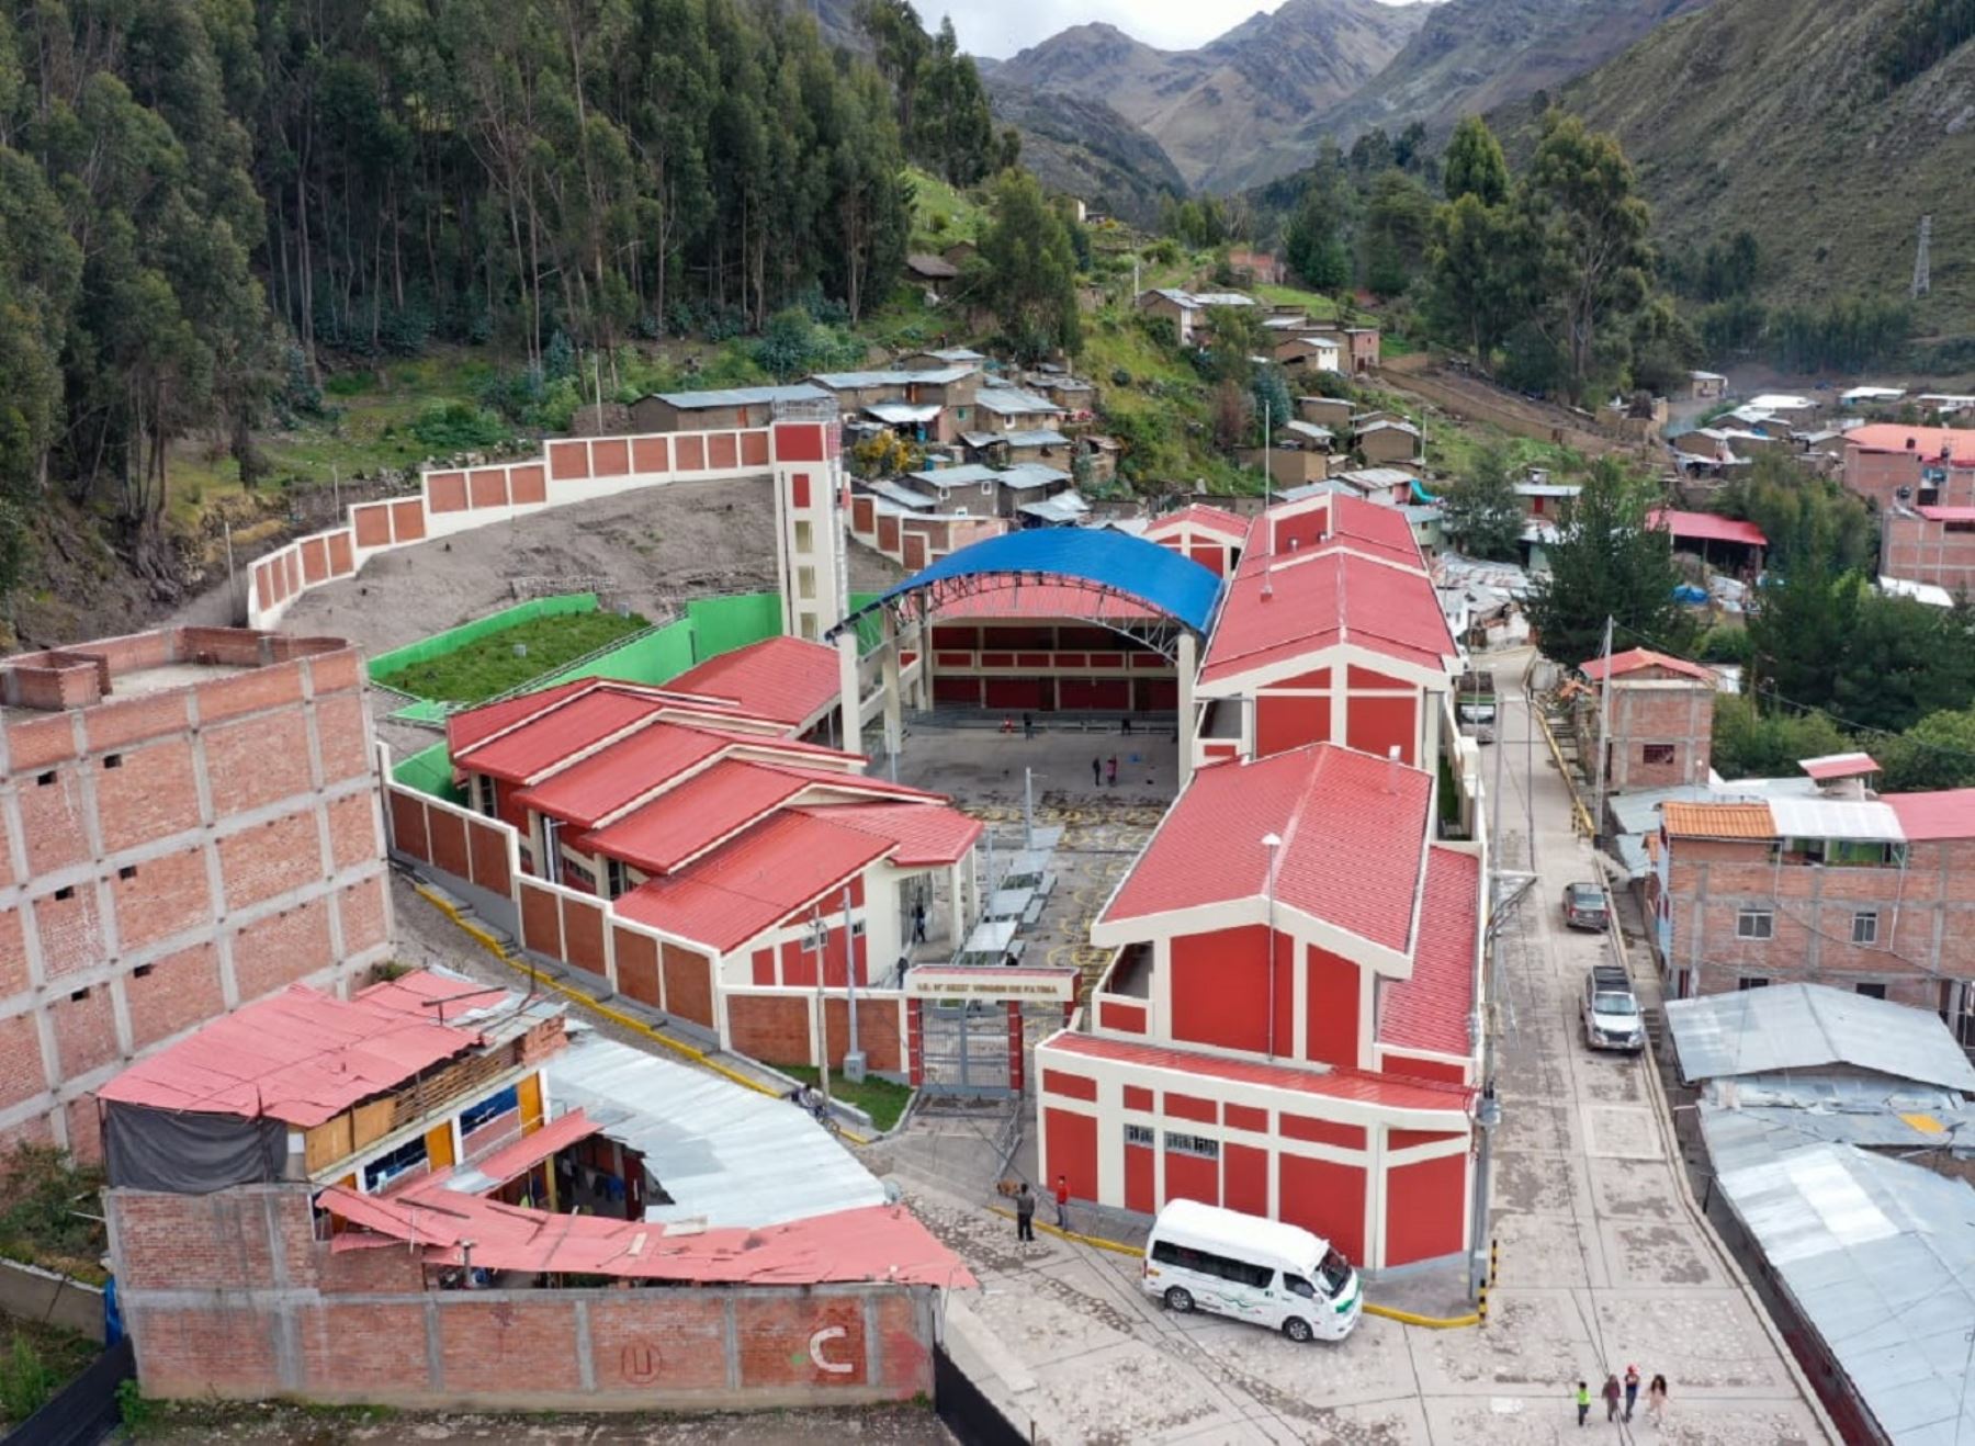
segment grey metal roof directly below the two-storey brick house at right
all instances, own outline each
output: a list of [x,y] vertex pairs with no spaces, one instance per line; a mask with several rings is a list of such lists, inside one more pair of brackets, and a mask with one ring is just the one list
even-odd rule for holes
[[1689,1081],[1851,1065],[1975,1092],[1975,1065],[1937,1015],[1825,984],[1669,1000],[1667,1029]]

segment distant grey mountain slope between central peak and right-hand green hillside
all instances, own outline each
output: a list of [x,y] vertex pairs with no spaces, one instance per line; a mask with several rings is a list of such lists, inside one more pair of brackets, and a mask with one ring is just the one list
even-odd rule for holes
[[1373,126],[1396,134],[1412,120],[1424,120],[1434,138],[1446,138],[1463,115],[1554,91],[1667,20],[1706,4],[1710,0],[1446,0],[1426,12],[1406,45],[1369,83],[1224,170],[1234,184],[1256,186],[1307,164],[1325,138],[1349,146]]

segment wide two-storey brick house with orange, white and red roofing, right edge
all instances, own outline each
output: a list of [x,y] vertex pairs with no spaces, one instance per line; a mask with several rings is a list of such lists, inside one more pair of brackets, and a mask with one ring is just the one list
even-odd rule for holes
[[1872,794],[1866,755],[1803,768],[1821,796],[1661,808],[1647,901],[1675,994],[1831,984],[1975,1041],[1975,790]]

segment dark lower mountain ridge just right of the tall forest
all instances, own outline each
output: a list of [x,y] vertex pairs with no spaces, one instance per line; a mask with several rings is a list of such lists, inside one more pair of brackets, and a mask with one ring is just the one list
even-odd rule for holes
[[1102,101],[1045,95],[984,73],[995,120],[1021,130],[1021,164],[1051,190],[1151,227],[1161,196],[1185,196],[1187,182],[1159,142]]

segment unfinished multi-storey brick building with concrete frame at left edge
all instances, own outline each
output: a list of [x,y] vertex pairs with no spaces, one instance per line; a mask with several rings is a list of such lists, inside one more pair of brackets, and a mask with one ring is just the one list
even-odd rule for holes
[[168,628],[0,662],[0,1140],[89,1158],[91,1090],[391,948],[361,662]]

